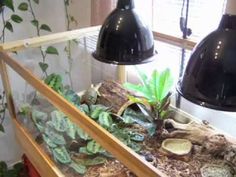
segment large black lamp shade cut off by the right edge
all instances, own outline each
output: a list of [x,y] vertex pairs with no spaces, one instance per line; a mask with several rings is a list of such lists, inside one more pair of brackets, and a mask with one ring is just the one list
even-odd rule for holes
[[224,15],[218,29],[195,47],[177,90],[201,106],[236,111],[235,15]]

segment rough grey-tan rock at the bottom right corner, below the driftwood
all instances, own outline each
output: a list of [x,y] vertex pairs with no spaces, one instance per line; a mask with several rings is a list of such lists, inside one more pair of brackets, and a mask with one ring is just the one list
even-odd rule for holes
[[202,177],[234,177],[231,169],[224,165],[206,164],[201,168]]

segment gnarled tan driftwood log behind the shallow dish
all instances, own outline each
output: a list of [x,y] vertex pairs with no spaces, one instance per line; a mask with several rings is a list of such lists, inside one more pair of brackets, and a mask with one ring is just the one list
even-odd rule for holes
[[227,153],[229,147],[236,145],[234,138],[220,134],[209,125],[200,124],[195,121],[188,124],[181,124],[173,119],[165,120],[164,124],[168,128],[162,134],[163,138],[188,139],[193,144],[201,145],[202,151],[205,153],[212,155],[229,154]]

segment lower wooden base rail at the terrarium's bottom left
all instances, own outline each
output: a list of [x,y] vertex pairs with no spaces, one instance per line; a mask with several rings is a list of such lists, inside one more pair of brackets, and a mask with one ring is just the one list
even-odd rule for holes
[[22,147],[23,152],[30,159],[30,162],[36,167],[42,177],[64,177],[54,162],[34,141],[34,138],[29,135],[27,130],[13,118],[15,126],[15,135]]

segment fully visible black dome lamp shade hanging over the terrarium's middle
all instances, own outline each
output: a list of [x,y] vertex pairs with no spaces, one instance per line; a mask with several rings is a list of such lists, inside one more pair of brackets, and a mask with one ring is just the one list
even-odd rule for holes
[[93,57],[105,63],[132,65],[150,62],[154,54],[152,31],[135,12],[133,0],[118,0],[100,30]]

